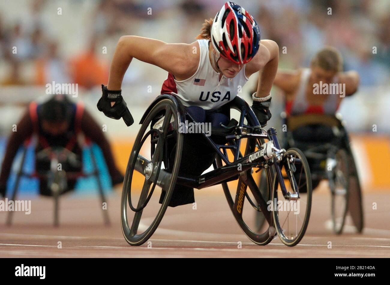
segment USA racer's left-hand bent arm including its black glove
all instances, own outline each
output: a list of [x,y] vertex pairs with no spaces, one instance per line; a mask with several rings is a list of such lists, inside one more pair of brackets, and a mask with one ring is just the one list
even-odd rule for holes
[[[102,84],[102,97],[97,102],[97,109],[107,117],[119,120],[123,118],[126,125],[134,123],[133,117],[122,97],[122,81],[133,58],[151,63],[172,73],[179,80],[189,77],[196,68],[194,59],[199,59],[195,43],[167,44],[161,40],[137,36],[122,36],[110,66],[108,84]],[[188,76],[186,76],[188,75]]]

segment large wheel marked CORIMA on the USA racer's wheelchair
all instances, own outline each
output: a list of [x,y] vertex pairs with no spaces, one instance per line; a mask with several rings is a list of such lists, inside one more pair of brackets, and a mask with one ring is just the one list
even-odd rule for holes
[[[240,124],[246,123],[252,127],[257,126],[257,122],[254,120],[255,115],[245,100],[236,96],[229,105],[230,111],[233,109],[240,112]],[[230,113],[232,114],[232,112]],[[246,120],[246,122],[244,122],[244,120]],[[246,146],[241,147],[241,149],[245,148],[245,153],[242,155],[240,152],[239,157],[246,156],[259,150],[262,143],[264,143],[263,139],[246,139]],[[235,153],[233,153],[233,155],[235,155]],[[218,156],[214,167],[221,167],[222,165],[222,159]],[[260,169],[259,174],[257,174],[257,172],[258,171],[253,173],[251,169],[241,172],[241,174],[235,178],[237,185],[235,181],[226,181],[222,183],[222,188],[229,208],[241,230],[257,245],[267,245],[276,236],[276,233],[273,232],[272,236],[270,236],[269,223],[266,221],[264,213],[262,213],[259,207],[259,197],[263,197],[265,202],[271,197],[273,171],[272,168],[269,167]],[[254,175],[261,177],[260,183],[257,183],[259,179],[255,179],[253,177]],[[261,190],[259,190],[259,187]],[[269,220],[271,220],[271,225],[273,225],[271,211],[266,213],[266,215],[269,215]]]

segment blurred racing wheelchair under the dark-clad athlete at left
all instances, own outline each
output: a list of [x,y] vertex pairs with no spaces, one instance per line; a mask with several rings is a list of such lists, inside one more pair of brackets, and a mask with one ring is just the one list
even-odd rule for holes
[[[66,192],[73,190],[73,186],[76,182],[76,179],[93,176],[97,181],[97,188],[101,198],[101,203],[106,202],[103,191],[103,185],[100,181],[99,169],[97,167],[96,158],[92,151],[91,142],[87,138],[80,137],[80,141],[83,142],[83,147],[89,151],[90,159],[92,162],[92,171],[85,173],[82,171],[82,162],[80,157],[64,147],[46,147],[38,151],[35,156],[43,164],[48,165],[46,170],[35,170],[32,173],[24,171],[25,160],[27,156],[27,150],[29,147],[34,147],[35,143],[38,141],[36,135],[32,136],[30,139],[25,141],[23,145],[23,150],[21,154],[21,162],[19,169],[16,173],[15,183],[11,190],[11,200],[15,201],[19,191],[19,185],[22,177],[27,178],[38,178],[41,181],[46,181],[48,193],[40,193],[41,195],[53,197],[54,202],[54,211],[53,211],[53,225],[55,227],[59,226],[59,199],[60,196]],[[58,169],[58,165],[61,165],[61,169]],[[62,169],[64,168],[64,169]],[[67,171],[65,169],[68,169]],[[68,185],[67,181],[71,180],[74,183]],[[13,211],[8,212],[6,224],[8,226],[12,225]],[[110,217],[108,216],[107,211],[103,211],[103,219],[105,225],[110,225]]]

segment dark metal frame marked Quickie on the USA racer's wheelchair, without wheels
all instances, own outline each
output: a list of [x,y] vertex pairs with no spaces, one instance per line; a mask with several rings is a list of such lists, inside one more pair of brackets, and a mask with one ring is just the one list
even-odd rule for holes
[[[149,111],[154,107],[160,100],[162,99],[170,99],[172,102],[174,102],[175,106],[177,107],[177,110],[179,111],[178,116],[179,116],[179,123],[184,122],[185,118],[190,118],[191,121],[195,122],[191,115],[187,113],[184,110],[184,107],[179,103],[179,101],[176,99],[174,95],[171,94],[163,94],[158,96],[152,104],[148,107],[148,109],[145,111],[145,114],[148,114]],[[250,176],[249,179],[245,178],[246,183],[250,185],[250,189],[256,189],[257,191],[251,191],[252,194],[255,197],[255,200],[259,203],[259,207],[255,206],[254,203],[249,199],[249,197],[246,194],[246,197],[248,198],[250,204],[254,207],[257,208],[259,211],[261,209],[262,213],[266,217],[266,220],[268,221],[269,225],[272,224],[272,218],[271,218],[271,213],[269,213],[267,209],[267,202],[264,200],[264,198],[261,195],[261,192],[258,188],[258,186],[255,183],[255,180],[252,178],[251,175],[246,175],[246,172],[252,167],[259,167],[259,168],[268,168],[271,165],[275,165],[275,175],[278,178],[279,184],[282,189],[282,194],[285,199],[288,200],[298,200],[300,198],[299,196],[299,190],[298,190],[298,185],[294,179],[294,185],[292,185],[293,190],[295,193],[287,192],[286,186],[284,183],[284,177],[282,175],[281,171],[281,166],[280,162],[283,159],[283,155],[286,152],[284,149],[280,148],[280,144],[278,142],[277,138],[277,133],[275,128],[269,128],[267,132],[264,132],[264,129],[258,127],[258,130],[261,130],[261,134],[252,134],[252,133],[246,133],[243,134],[243,130],[245,129],[255,129],[256,127],[250,127],[249,125],[244,124],[244,119],[246,118],[248,123],[254,126],[259,126],[259,121],[257,120],[255,114],[253,113],[252,109],[248,105],[248,103],[245,102],[241,97],[236,96],[234,100],[232,100],[229,104],[232,106],[234,109],[237,109],[241,111],[240,115],[240,120],[239,120],[239,125],[236,128],[237,132],[234,135],[227,135],[227,139],[234,139],[234,144],[230,145],[224,145],[224,144],[216,144],[210,137],[207,137],[206,134],[203,134],[203,136],[206,138],[206,140],[209,142],[209,144],[214,148],[218,156],[225,162],[226,165],[222,167],[216,167],[216,163],[214,162],[214,169],[213,171],[206,172],[200,176],[177,176],[176,183],[184,186],[189,186],[192,188],[197,188],[197,189],[202,189],[206,188],[208,186],[213,186],[213,185],[218,185],[222,184],[228,181],[236,180],[239,178],[239,176]],[[142,117],[140,120],[140,124],[144,123],[146,115]],[[248,138],[248,139],[269,139],[273,143],[272,146],[272,155],[273,157],[270,158],[269,160],[266,160],[265,158],[262,157],[262,155],[259,155],[258,158],[250,160],[250,157],[254,154],[259,154],[261,150],[254,151],[245,157],[242,157],[240,154],[240,146],[241,146],[241,139],[242,138]],[[237,142],[236,142],[237,141]],[[259,146],[261,146],[262,142],[259,142]],[[248,144],[249,145],[249,144]],[[223,151],[221,151],[221,149]],[[231,149],[234,153],[234,161],[229,162],[228,156],[227,156],[227,149]],[[298,161],[298,160],[297,160]],[[142,155],[138,154],[137,157],[137,162],[135,163],[135,170],[137,170],[140,173],[145,173],[147,169],[145,168],[145,165],[150,165],[151,161],[149,161],[147,158],[143,157]],[[240,165],[241,164],[241,165]],[[239,169],[239,166],[241,166],[241,169]],[[286,166],[287,167],[287,166]],[[290,169],[288,167],[287,169]],[[158,178],[156,179],[156,176]],[[168,181],[170,181],[171,176],[170,173],[165,171],[165,169],[154,169],[150,174],[149,178],[151,181],[156,181],[156,184],[164,187],[164,185],[167,184]],[[240,189],[238,188],[238,192]],[[236,195],[236,201],[235,204],[238,203],[239,199],[239,193]],[[142,209],[145,208],[147,205],[147,202],[149,199],[146,200],[141,206],[139,206],[137,209],[133,209],[133,211],[138,212],[142,211]],[[260,208],[260,209],[259,209]]]

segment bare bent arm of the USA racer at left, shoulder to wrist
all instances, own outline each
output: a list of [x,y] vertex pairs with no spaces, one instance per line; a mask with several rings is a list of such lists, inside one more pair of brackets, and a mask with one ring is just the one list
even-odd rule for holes
[[188,66],[195,55],[192,51],[190,44],[167,44],[145,37],[122,36],[112,58],[107,88],[121,89],[123,76],[133,58],[161,67],[175,77],[193,74],[195,70],[189,70]]

